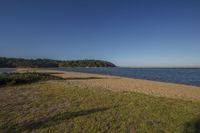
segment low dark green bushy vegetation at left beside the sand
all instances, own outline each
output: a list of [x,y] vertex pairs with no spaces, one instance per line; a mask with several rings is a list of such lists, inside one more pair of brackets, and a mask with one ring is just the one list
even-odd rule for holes
[[4,73],[0,74],[0,86],[19,85],[41,80],[58,80],[60,77],[45,73]]

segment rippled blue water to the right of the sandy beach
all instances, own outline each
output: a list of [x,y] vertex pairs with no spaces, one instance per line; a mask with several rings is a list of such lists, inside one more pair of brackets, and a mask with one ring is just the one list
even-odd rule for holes
[[200,68],[53,68],[200,86]]

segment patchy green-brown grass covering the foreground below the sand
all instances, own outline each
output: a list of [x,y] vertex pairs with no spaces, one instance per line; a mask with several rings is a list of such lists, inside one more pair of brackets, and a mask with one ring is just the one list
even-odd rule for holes
[[44,81],[0,88],[0,132],[200,131],[200,102]]

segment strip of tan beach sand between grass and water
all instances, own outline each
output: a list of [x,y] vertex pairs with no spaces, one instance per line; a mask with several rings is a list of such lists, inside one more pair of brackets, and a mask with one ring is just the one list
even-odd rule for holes
[[51,73],[53,75],[65,78],[67,82],[73,82],[77,85],[84,85],[92,88],[96,87],[100,89],[109,89],[112,91],[134,91],[158,97],[175,99],[200,100],[200,87],[190,85],[47,69],[18,69],[17,71]]

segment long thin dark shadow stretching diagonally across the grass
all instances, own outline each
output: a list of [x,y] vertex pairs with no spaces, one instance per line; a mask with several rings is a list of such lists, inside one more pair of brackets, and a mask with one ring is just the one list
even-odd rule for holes
[[57,114],[52,117],[47,117],[47,118],[40,118],[36,121],[30,121],[30,122],[24,122],[24,123],[18,123],[15,125],[10,125],[7,124],[6,127],[4,128],[5,132],[22,132],[22,131],[32,131],[35,129],[40,129],[40,128],[45,128],[45,127],[50,127],[52,125],[56,125],[59,123],[62,123],[65,120],[73,119],[79,116],[85,116],[85,115],[90,115],[93,113],[97,112],[102,112],[109,110],[111,108],[94,108],[94,109],[89,109],[89,110],[82,110],[78,112],[65,112],[62,114]]

